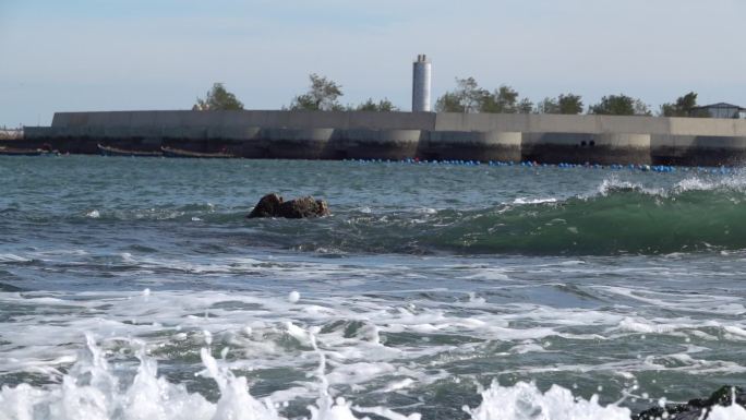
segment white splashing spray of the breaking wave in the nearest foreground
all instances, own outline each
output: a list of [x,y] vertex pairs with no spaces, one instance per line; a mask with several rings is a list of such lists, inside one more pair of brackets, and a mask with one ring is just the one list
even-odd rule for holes
[[[358,420],[374,415],[389,420],[420,420],[419,412],[402,415],[400,409],[388,407],[361,407],[348,403],[329,387],[326,374],[326,355],[315,345],[312,332],[301,331],[318,356],[315,371],[317,398],[306,405],[311,420]],[[207,346],[210,340],[207,339]],[[249,381],[234,374],[225,363],[217,360],[213,350],[201,350],[204,370],[200,376],[210,379],[218,388],[217,401],[212,403],[198,393],[186,389],[184,384],[172,383],[158,375],[157,362],[147,356],[142,343],[130,343],[139,347],[136,358],[140,364],[134,377],[122,375],[122,369],[112,369],[106,353],[97,347],[94,338],[87,336],[87,350],[63,376],[61,384],[35,387],[21,384],[0,389],[0,419],[234,419],[234,420],[286,420],[284,417],[289,401],[274,401],[270,397],[257,399],[250,394]],[[228,351],[220,351],[225,359]],[[505,419],[629,419],[630,411],[616,405],[601,406],[598,396],[590,400],[575,397],[566,388],[554,385],[542,393],[534,384],[519,382],[514,386],[492,386],[481,393],[482,403],[470,408],[464,406],[473,420]],[[409,409],[411,410],[411,408]],[[308,418],[308,417],[304,417]],[[730,417],[725,417],[730,418]]]

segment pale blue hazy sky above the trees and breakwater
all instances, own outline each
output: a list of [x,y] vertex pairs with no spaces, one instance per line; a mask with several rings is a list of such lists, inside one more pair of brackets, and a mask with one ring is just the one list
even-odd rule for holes
[[744,0],[0,0],[0,125],[56,111],[191,109],[215,82],[278,109],[309,74],[342,104],[411,108],[473,76],[539,101],[626,94],[657,110],[690,91],[746,106]]

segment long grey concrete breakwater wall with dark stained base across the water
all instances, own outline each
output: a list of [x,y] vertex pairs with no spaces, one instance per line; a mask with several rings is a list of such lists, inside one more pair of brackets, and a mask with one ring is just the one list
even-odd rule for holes
[[718,166],[746,161],[746,120],[321,111],[57,112],[23,144],[225,151],[246,158],[468,159]]

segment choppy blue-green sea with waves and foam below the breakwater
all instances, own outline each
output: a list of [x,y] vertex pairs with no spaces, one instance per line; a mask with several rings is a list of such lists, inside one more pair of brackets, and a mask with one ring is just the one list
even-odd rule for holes
[[0,157],[2,420],[629,419],[745,303],[738,169]]

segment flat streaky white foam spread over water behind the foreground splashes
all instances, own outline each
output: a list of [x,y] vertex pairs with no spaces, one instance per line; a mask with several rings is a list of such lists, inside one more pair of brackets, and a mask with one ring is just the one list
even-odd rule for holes
[[[454,363],[471,363],[485,356],[501,359],[500,372],[494,372],[501,377],[503,374],[537,377],[551,373],[568,377],[579,372],[601,376],[624,373],[625,381],[631,382],[641,372],[651,375],[670,371],[695,376],[746,372],[737,362],[718,360],[718,355],[708,351],[714,340],[720,340],[718,345],[729,340],[735,345],[743,343],[743,325],[737,315],[743,314],[744,309],[738,296],[718,288],[690,293],[636,283],[575,283],[577,290],[568,291],[565,288],[568,284],[560,279],[521,279],[525,273],[583,277],[589,271],[598,269],[590,260],[563,259],[537,264],[514,276],[515,266],[510,264],[455,261],[435,269],[428,267],[429,257],[412,269],[404,269],[399,265],[394,268],[390,265],[361,266],[354,259],[342,263],[293,261],[286,264],[281,254],[255,260],[212,259],[204,265],[200,260],[147,260],[149,256],[136,253],[120,256],[132,264],[152,264],[169,267],[169,271],[176,269],[170,267],[184,269],[182,264],[188,263],[190,271],[200,266],[195,272],[230,273],[236,275],[237,283],[244,281],[244,271],[288,283],[279,285],[277,290],[273,289],[273,284],[251,291],[245,290],[245,285],[231,291],[164,290],[145,283],[128,292],[0,293],[0,307],[17,308],[25,314],[3,323],[2,338],[7,344],[0,345],[3,353],[0,374],[34,374],[63,384],[62,372],[72,363],[82,363],[77,360],[75,345],[80,341],[79,332],[91,331],[109,353],[119,351],[121,344],[133,337],[147,343],[154,357],[165,359],[170,359],[172,353],[198,352],[198,348],[206,345],[218,350],[230,348],[228,360],[218,361],[218,364],[234,372],[255,372],[252,381],[261,382],[265,380],[263,370],[311,372],[316,361],[312,349],[315,340],[327,359],[325,377],[332,400],[325,403],[326,412],[337,410],[361,418],[375,411],[363,411],[356,406],[360,404],[356,401],[357,397],[386,393],[418,396],[422,388],[431,385],[470,381],[473,377],[468,374],[453,373]],[[440,271],[456,280],[435,280],[418,286],[420,279],[442,276]],[[364,288],[354,286],[360,285],[354,279],[365,276],[373,280],[376,277],[396,279],[389,276],[393,272],[398,273],[399,280],[405,279],[405,287],[385,289],[385,285],[392,284],[388,281],[376,286],[369,283]],[[609,273],[626,278],[688,275],[684,271],[665,272],[654,266],[645,269],[610,267]],[[340,285],[348,281],[347,277],[352,278],[352,286],[338,290],[344,288]],[[314,281],[313,287],[308,280]],[[149,295],[146,288],[152,290]],[[302,299],[293,303],[288,298],[294,288],[305,291]],[[558,307],[551,301],[542,303],[548,298],[556,303],[557,293],[575,296],[576,291],[582,293],[578,296],[593,296],[613,304],[578,308],[574,304]],[[44,311],[38,312],[38,308]],[[648,312],[647,308],[663,309],[665,313]],[[642,353],[640,358],[612,355],[609,358],[590,357],[581,362],[557,359],[545,363],[543,360],[551,356],[541,355],[564,351],[562,343],[567,340],[576,345],[580,340],[593,341],[603,347],[616,341],[638,340],[640,335],[648,335],[650,344],[657,339],[653,336],[664,335],[671,346],[662,353]],[[176,362],[181,363],[180,360]],[[254,379],[254,374],[258,379]],[[124,382],[130,376],[118,377],[121,386],[129,384]],[[57,388],[50,385],[33,389],[29,393]],[[292,401],[318,397],[316,380],[313,376],[304,380],[301,375],[301,379],[281,383],[281,388],[268,396],[281,416],[284,411],[278,404],[297,404]],[[347,399],[336,401],[338,396]],[[215,409],[214,405],[207,404],[208,410]],[[260,400],[260,404],[264,401]],[[381,409],[402,411],[396,407]],[[418,409],[409,407],[404,411]]]

